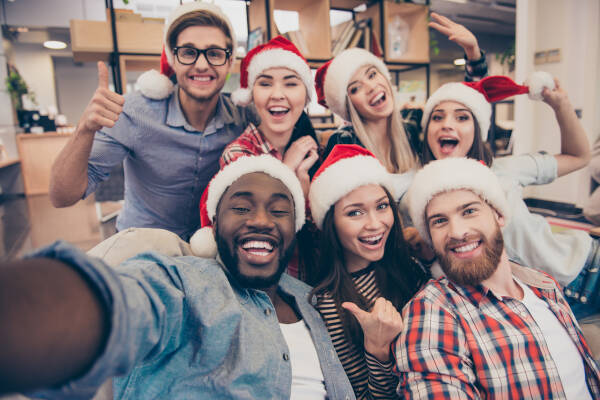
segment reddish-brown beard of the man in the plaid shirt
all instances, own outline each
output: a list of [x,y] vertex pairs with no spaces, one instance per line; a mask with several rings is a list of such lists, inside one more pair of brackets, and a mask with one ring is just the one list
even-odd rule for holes
[[445,253],[438,254],[440,265],[448,279],[461,286],[477,286],[491,277],[498,268],[504,249],[504,238],[500,227],[496,225],[496,231],[490,239],[481,235],[483,253],[480,256],[470,260],[460,260],[450,256],[449,245],[460,244],[472,239],[473,237],[470,236],[460,241],[451,241],[446,245]]

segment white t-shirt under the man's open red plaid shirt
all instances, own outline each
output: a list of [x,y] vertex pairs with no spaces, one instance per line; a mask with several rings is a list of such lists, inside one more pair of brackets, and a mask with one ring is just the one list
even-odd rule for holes
[[533,293],[529,286],[515,281],[523,288],[521,303],[542,331],[546,345],[558,370],[567,399],[592,399],[585,379],[585,366],[579,351],[565,327],[554,315],[548,303]]

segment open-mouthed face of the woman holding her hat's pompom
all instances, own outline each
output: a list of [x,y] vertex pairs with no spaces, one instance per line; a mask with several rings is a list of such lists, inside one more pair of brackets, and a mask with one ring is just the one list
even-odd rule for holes
[[431,112],[426,136],[437,160],[465,157],[475,138],[473,114],[460,103],[443,101]]

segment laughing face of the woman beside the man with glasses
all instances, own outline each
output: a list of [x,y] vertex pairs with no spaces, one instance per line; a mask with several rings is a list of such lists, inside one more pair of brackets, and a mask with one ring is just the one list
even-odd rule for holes
[[[298,74],[287,68],[269,68],[257,76],[252,99],[260,116],[260,130],[270,137],[291,137],[306,104],[307,92]],[[281,141],[281,140],[278,140]]]

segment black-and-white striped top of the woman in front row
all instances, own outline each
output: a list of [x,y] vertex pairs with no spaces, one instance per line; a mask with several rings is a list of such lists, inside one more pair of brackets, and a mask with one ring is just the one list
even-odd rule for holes
[[[369,266],[352,274],[356,289],[369,302],[380,296],[375,269]],[[331,295],[318,296],[317,310],[321,313],[338,358],[350,379],[357,399],[396,399],[398,378],[392,372],[393,361],[381,363],[364,348],[356,347],[344,335],[342,321]]]

